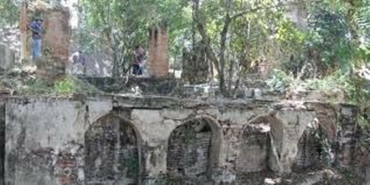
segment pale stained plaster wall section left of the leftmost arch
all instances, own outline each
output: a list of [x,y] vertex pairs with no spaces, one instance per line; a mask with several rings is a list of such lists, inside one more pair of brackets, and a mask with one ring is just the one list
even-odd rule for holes
[[84,133],[97,115],[110,109],[104,98],[7,99],[5,183],[84,182]]

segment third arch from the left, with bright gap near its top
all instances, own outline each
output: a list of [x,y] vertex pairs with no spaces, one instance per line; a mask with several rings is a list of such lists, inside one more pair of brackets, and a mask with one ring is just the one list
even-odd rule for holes
[[243,126],[239,135],[240,154],[236,169],[240,173],[279,170],[283,126],[273,114],[263,114]]

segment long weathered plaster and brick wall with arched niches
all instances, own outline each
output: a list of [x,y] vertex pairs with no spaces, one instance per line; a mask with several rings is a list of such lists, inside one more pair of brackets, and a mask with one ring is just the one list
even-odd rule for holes
[[[6,163],[5,181],[257,183],[261,181],[252,179],[263,178],[261,172],[290,173],[294,165],[310,166],[301,162],[311,160],[302,153],[312,150],[302,147],[303,138],[310,136],[310,124],[317,125],[319,105],[292,108],[279,102],[111,96],[10,98],[1,158]],[[331,108],[343,125],[340,133],[348,137],[339,143],[337,154],[346,165],[352,159],[348,151],[353,137],[348,131],[355,124],[354,107]]]

